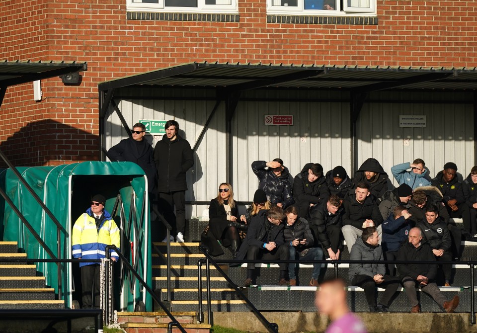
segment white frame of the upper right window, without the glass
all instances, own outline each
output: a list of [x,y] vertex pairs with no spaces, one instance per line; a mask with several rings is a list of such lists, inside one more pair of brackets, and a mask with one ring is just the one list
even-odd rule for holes
[[335,10],[305,9],[305,0],[297,0],[297,6],[274,6],[273,0],[267,0],[267,14],[279,15],[310,15],[310,16],[376,16],[377,0],[369,0],[370,7],[351,7],[348,6],[348,0],[336,0]]

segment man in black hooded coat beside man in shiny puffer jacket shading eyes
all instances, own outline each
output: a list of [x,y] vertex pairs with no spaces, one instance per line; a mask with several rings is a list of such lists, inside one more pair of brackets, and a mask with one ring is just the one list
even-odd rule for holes
[[293,182],[293,199],[300,216],[308,217],[310,208],[329,197],[328,186],[323,177],[323,167],[318,163],[308,163],[295,176]]

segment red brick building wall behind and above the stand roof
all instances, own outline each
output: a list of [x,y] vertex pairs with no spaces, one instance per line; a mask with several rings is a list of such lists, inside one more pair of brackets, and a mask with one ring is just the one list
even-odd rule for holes
[[126,19],[126,0],[2,0],[0,60],[88,62],[79,86],[59,78],[10,87],[0,149],[16,164],[98,159],[99,82],[191,61],[476,66],[477,1],[378,0],[377,25],[267,23],[266,0],[239,0],[239,22]]

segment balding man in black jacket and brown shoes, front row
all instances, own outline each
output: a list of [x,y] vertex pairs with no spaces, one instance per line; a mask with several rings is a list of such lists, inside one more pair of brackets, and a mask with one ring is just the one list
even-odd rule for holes
[[[422,241],[422,232],[419,228],[412,228],[409,231],[409,242],[405,242],[397,252],[398,261],[434,261],[436,260],[431,246]],[[397,271],[401,276],[407,298],[411,303],[411,313],[421,312],[419,301],[417,300],[416,287],[431,296],[437,304],[442,306],[446,312],[454,312],[459,305],[459,296],[448,302],[434,282],[437,267],[434,264],[408,263],[398,264]]]

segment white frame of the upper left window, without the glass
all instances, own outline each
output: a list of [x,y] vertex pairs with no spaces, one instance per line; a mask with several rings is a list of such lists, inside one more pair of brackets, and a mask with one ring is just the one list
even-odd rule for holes
[[173,12],[173,13],[238,13],[238,0],[231,4],[205,4],[205,0],[197,0],[197,7],[165,7],[164,0],[158,3],[142,3],[126,0],[127,11]]

